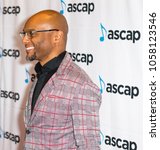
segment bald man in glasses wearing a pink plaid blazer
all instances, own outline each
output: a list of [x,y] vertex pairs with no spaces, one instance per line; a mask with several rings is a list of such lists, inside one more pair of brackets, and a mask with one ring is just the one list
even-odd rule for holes
[[38,60],[26,109],[26,150],[99,150],[99,88],[66,49],[68,25],[53,10],[31,16],[20,32],[27,60]]

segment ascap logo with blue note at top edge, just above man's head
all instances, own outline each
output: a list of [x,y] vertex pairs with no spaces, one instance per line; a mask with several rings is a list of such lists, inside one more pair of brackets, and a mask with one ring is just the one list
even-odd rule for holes
[[60,0],[61,3],[61,10],[60,13],[64,14],[65,11],[67,12],[83,12],[87,13],[88,15],[94,11],[95,5],[93,2],[88,3],[68,3],[66,4],[65,0]]

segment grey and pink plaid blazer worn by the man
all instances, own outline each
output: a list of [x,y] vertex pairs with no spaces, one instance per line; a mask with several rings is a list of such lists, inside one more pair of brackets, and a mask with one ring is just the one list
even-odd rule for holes
[[38,97],[26,107],[26,150],[100,150],[99,88],[66,53]]

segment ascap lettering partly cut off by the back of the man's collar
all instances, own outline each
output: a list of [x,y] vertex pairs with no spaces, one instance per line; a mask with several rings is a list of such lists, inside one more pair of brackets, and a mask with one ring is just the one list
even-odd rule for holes
[[86,63],[89,65],[93,62],[93,55],[92,54],[84,54],[84,53],[69,53],[72,60],[76,62]]

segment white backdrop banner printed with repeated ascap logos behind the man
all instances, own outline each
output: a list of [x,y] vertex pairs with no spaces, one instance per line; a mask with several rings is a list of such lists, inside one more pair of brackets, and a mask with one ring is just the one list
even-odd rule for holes
[[0,149],[23,147],[36,62],[19,32],[43,9],[67,18],[67,51],[100,88],[101,149],[142,150],[142,0],[0,0]]

